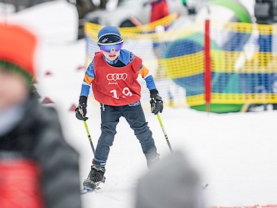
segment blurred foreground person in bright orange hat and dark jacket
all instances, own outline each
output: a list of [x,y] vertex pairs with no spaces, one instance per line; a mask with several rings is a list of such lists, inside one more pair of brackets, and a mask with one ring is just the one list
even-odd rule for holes
[[78,154],[33,92],[36,37],[0,24],[0,207],[78,208]]

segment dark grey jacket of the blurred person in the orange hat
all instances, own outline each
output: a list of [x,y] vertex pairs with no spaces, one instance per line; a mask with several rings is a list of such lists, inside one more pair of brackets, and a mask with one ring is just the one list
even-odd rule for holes
[[64,140],[57,112],[34,95],[17,127],[0,137],[1,152],[21,153],[39,166],[45,207],[81,207],[78,153]]

